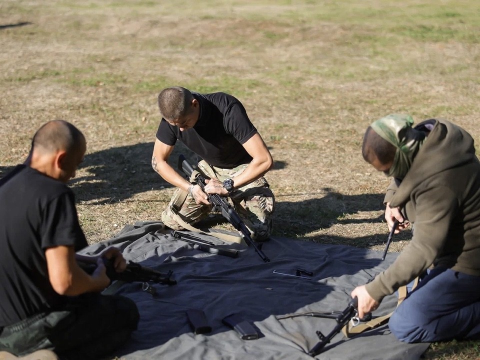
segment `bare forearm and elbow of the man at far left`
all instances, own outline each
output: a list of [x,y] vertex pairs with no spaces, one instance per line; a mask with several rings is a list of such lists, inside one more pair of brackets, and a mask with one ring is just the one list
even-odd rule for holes
[[55,246],[45,250],[48,278],[60,295],[75,296],[103,290],[110,283],[101,258],[97,268],[88,275],[78,266],[73,246]]

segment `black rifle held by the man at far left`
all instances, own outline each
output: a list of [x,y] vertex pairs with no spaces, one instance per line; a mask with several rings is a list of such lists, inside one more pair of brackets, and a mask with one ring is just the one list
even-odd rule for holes
[[[96,268],[96,260],[101,255],[87,256],[76,254],[75,258],[79,261],[80,267],[88,273],[92,273]],[[106,275],[110,280],[120,280],[125,282],[157,282],[165,285],[176,284],[175,280],[170,278],[173,271],[169,270],[166,274],[154,270],[150,267],[141,266],[135,262],[128,261],[126,269],[122,272],[116,272],[113,268],[113,263],[110,260],[103,258],[103,263],[106,268]]]

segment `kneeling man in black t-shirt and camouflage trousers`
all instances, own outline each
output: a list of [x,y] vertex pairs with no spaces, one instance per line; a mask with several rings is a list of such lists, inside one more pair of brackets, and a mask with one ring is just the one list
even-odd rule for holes
[[[212,208],[205,192],[217,193],[231,198],[253,239],[268,239],[274,196],[263,175],[271,169],[273,160],[240,101],[224,92],[200,94],[176,86],[158,94],[158,108],[162,119],[152,167],[178,187],[162,212],[162,222],[181,229],[181,216],[189,225],[194,224]],[[168,164],[177,140],[201,158],[197,168],[209,178],[205,192]]]

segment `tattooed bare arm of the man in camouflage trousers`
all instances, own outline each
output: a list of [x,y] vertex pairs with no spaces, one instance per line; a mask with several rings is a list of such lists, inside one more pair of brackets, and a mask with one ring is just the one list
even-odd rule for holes
[[[173,151],[173,146],[166,145],[160,140],[155,139],[153,154],[151,156],[151,167],[153,167],[153,170],[173,186],[188,191],[191,184],[168,164],[168,157],[170,156],[171,151]],[[192,195],[197,203],[209,203],[207,196],[203,193],[199,185],[194,186]]]

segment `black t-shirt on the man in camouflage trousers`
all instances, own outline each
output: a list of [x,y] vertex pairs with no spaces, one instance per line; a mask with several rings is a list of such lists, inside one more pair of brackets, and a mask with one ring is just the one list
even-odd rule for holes
[[256,133],[256,128],[241,102],[224,92],[192,94],[200,104],[195,126],[180,131],[162,118],[156,138],[171,146],[178,139],[213,166],[233,168],[249,163],[252,157],[242,144]]

